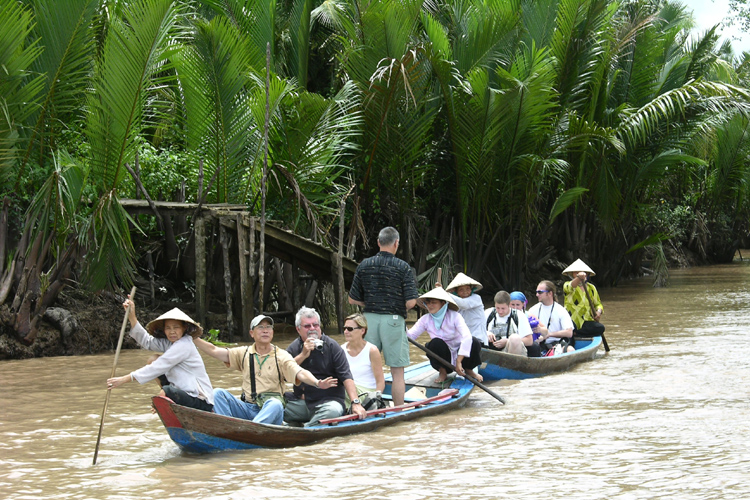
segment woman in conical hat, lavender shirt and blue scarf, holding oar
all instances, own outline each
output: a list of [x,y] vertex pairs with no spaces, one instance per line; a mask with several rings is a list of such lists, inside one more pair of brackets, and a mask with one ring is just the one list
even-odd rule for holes
[[[423,332],[427,332],[431,339],[427,342],[427,349],[450,362],[459,375],[468,373],[481,382],[482,376],[474,373],[474,368],[481,362],[479,353],[482,345],[471,336],[469,327],[457,312],[458,305],[453,296],[436,287],[419,297],[417,304],[429,314],[419,318],[409,329],[409,338],[415,340]],[[430,359],[430,364],[440,373],[436,382],[443,382],[454,371],[434,359]]]

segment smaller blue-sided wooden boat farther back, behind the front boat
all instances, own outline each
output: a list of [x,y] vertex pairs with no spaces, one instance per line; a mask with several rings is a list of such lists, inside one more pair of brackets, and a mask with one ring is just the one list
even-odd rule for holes
[[482,374],[485,381],[542,377],[550,373],[565,371],[573,365],[594,359],[601,344],[601,337],[576,338],[575,351],[543,358],[528,358],[517,354],[482,349],[482,365],[479,368],[479,373]]

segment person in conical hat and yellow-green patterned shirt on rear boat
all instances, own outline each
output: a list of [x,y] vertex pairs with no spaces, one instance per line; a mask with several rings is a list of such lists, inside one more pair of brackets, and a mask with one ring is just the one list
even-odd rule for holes
[[563,284],[565,309],[570,313],[576,326],[578,337],[596,337],[604,333],[604,325],[599,322],[604,308],[596,287],[588,282],[589,276],[596,273],[581,259],[569,265],[563,274],[572,278]]

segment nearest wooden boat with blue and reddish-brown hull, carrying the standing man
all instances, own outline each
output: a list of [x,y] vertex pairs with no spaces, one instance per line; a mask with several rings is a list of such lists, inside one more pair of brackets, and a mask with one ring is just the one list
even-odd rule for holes
[[[450,387],[442,388],[431,381],[437,372],[428,362],[405,370],[407,395],[403,406],[368,412],[364,420],[345,415],[323,420],[311,427],[258,424],[175,404],[168,398],[154,396],[153,406],[172,440],[182,449],[194,453],[253,448],[286,448],[321,441],[336,436],[367,432],[416,418],[437,415],[460,408],[473,389],[468,380],[456,377]],[[416,394],[416,395],[415,395]],[[386,380],[384,399],[390,398]]]

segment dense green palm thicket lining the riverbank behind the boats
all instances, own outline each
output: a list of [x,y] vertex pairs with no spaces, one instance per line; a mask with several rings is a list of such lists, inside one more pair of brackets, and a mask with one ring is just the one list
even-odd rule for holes
[[422,284],[726,262],[748,59],[691,26],[656,0],[0,0],[3,335],[149,266],[189,302],[190,217],[119,200],[259,214],[266,158],[269,218],[336,248],[345,201],[348,254],[393,225]]

